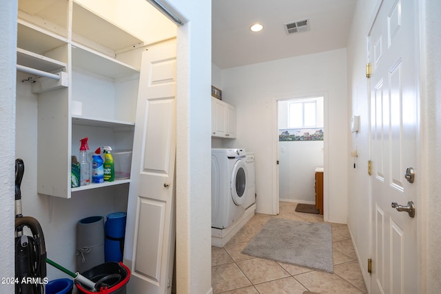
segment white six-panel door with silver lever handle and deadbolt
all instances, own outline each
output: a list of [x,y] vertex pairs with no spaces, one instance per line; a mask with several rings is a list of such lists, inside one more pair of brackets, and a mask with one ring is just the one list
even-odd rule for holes
[[[369,33],[372,293],[418,293],[418,67],[416,3],[384,0]],[[416,170],[413,183],[404,174]],[[391,207],[416,204],[416,217]]]

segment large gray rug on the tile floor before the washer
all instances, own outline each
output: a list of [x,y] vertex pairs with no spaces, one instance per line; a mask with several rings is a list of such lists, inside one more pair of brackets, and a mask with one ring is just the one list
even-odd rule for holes
[[331,226],[271,218],[242,253],[333,273]]

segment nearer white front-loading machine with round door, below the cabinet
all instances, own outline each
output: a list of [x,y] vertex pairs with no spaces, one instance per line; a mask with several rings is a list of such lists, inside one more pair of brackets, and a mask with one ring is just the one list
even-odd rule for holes
[[245,149],[212,149],[212,227],[225,229],[245,213]]

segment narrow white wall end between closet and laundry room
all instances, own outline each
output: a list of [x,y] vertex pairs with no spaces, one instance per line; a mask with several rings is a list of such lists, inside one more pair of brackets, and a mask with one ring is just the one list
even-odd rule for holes
[[178,28],[176,145],[177,293],[212,293],[212,2],[167,0]]

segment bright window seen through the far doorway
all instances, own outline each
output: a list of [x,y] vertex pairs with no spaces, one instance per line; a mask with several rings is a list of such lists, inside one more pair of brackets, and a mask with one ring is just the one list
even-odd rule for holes
[[288,127],[317,127],[317,101],[296,101],[288,104]]

